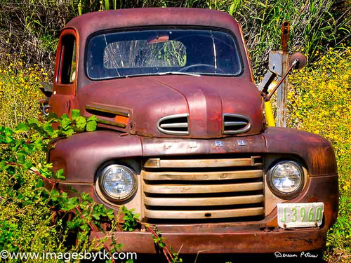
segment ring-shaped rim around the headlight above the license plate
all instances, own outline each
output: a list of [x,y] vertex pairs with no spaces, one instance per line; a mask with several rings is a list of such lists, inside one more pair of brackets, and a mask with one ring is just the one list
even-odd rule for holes
[[[289,193],[279,191],[279,189],[277,189],[274,186],[274,183],[272,182],[272,173],[274,172],[275,168],[277,168],[277,166],[279,164],[282,164],[282,163],[292,163],[293,166],[296,166],[296,168],[299,170],[300,175],[301,175],[300,185],[298,186],[298,188],[296,188],[295,190],[293,190],[293,191],[291,191]],[[270,168],[268,169],[266,182],[267,182],[267,185],[270,188],[270,191],[272,191],[272,193],[275,196],[277,196],[279,198],[282,198],[282,199],[294,198],[294,197],[298,196],[298,194],[300,194],[301,191],[303,191],[303,187],[305,186],[305,171],[304,171],[303,165],[300,162],[295,161],[295,160],[280,160],[280,161],[277,161],[277,162],[273,163],[272,166],[270,166]]]

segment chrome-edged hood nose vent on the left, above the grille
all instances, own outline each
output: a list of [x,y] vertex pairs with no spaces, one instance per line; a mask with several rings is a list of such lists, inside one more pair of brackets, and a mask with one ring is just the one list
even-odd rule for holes
[[174,114],[164,116],[157,122],[161,133],[170,135],[189,135],[189,114]]

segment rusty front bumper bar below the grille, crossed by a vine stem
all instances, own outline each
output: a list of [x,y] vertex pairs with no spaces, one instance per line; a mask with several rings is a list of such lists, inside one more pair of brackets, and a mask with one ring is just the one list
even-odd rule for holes
[[[218,227],[219,228],[219,227]],[[180,254],[201,253],[274,253],[301,252],[322,249],[326,243],[327,229],[298,229],[274,231],[241,231],[236,233],[164,233],[166,244]],[[124,252],[154,254],[152,236],[147,232],[114,232],[117,243]],[[95,235],[102,237],[103,234]],[[110,239],[110,238],[109,238]]]

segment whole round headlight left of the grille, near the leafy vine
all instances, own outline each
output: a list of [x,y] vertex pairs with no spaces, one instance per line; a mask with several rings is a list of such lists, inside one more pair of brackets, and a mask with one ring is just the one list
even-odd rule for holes
[[135,172],[126,166],[112,164],[98,174],[97,191],[107,200],[120,203],[135,194],[137,180]]

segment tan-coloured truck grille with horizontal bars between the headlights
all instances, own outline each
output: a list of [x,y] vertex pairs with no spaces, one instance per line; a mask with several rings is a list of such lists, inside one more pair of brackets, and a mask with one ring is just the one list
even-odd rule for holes
[[142,171],[144,217],[260,220],[264,215],[262,160],[261,156],[147,159]]

